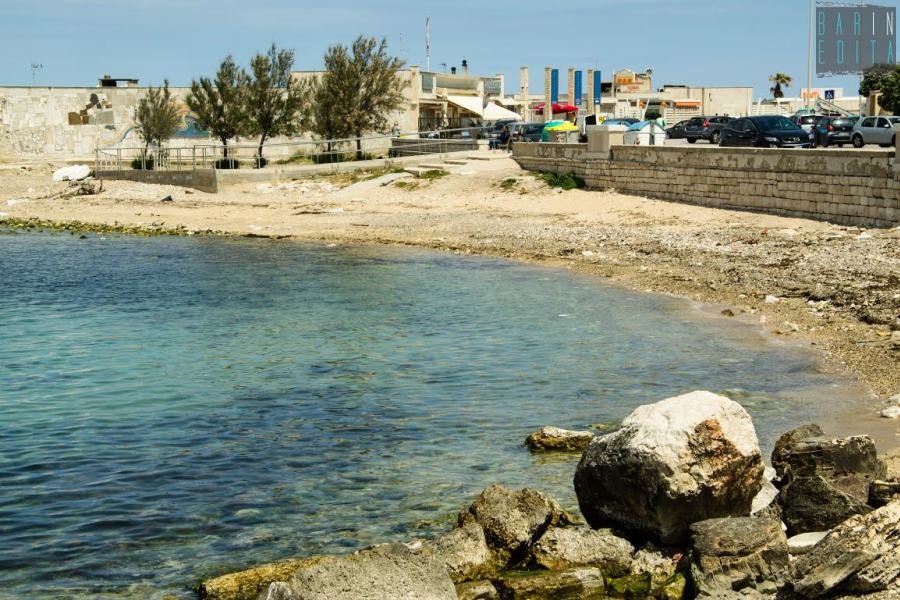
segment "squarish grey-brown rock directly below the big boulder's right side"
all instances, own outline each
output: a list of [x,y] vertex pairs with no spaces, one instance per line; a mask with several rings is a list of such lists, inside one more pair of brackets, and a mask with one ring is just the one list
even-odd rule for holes
[[691,575],[702,594],[740,597],[744,590],[774,594],[784,584],[790,555],[778,519],[710,519],[694,523],[691,531]]

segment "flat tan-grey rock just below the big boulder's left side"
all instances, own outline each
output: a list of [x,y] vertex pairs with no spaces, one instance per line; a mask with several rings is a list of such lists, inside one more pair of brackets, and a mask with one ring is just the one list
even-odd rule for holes
[[529,563],[561,571],[572,567],[599,567],[605,576],[628,573],[634,546],[608,529],[551,527],[532,547]]

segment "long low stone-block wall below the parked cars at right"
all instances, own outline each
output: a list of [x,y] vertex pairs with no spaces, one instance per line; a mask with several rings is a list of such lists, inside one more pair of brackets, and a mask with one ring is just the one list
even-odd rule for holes
[[588,187],[843,225],[900,224],[894,152],[513,144],[524,169],[572,171]]

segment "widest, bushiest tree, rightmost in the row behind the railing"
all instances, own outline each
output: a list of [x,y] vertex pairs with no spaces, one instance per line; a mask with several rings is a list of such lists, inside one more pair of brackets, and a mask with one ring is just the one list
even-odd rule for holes
[[385,131],[388,116],[403,102],[408,85],[397,76],[403,61],[388,55],[387,42],[360,36],[348,49],[340,44],[325,53],[325,73],[313,84],[314,130],[327,139],[356,137],[362,159],[364,133]]

